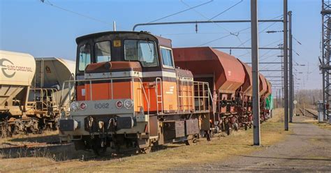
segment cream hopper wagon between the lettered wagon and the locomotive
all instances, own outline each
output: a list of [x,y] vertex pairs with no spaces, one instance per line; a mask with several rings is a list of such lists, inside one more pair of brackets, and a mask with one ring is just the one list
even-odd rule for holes
[[68,112],[69,96],[64,81],[72,80],[75,75],[75,61],[57,57],[38,57],[36,60],[36,75],[31,83],[28,105],[38,119],[39,126],[48,129],[57,128],[57,119],[61,112]]

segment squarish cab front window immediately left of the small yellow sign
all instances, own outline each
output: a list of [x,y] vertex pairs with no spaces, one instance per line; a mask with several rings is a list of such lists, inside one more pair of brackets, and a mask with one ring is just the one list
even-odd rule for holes
[[111,61],[110,41],[101,41],[94,45],[96,62]]

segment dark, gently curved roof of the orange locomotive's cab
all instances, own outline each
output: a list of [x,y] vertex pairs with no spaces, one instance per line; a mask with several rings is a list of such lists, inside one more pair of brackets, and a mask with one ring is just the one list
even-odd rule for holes
[[142,34],[142,35],[145,35],[145,36],[152,36],[153,38],[155,38],[155,40],[158,41],[159,45],[163,45],[165,47],[171,47],[171,40],[168,39],[168,38],[163,38],[163,37],[160,37],[160,36],[154,36],[153,34],[151,33],[147,33],[145,31],[140,31],[140,32],[137,32],[137,31],[105,31],[105,32],[99,32],[99,33],[91,33],[91,34],[88,34],[88,35],[85,35],[85,36],[80,36],[78,38],[76,38],[76,43],[80,43],[81,40],[85,40],[85,39],[88,39],[88,38],[95,38],[95,37],[99,37],[99,36],[105,36],[105,35],[110,35],[110,34],[118,34],[118,33],[132,33],[132,34]]

